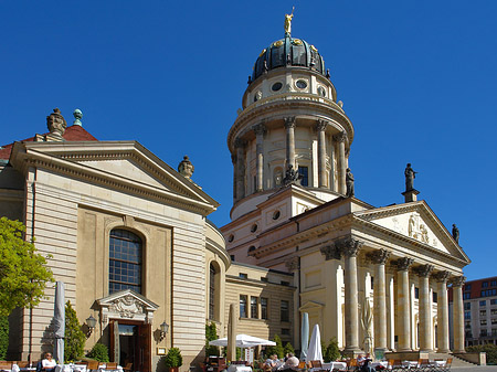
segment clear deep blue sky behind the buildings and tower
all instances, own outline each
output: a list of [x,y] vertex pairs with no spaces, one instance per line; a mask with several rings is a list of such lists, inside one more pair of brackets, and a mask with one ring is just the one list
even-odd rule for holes
[[401,203],[403,170],[445,226],[469,279],[497,275],[494,163],[497,1],[1,1],[0,144],[45,131],[60,107],[101,140],[136,139],[193,179],[228,223],[226,134],[260,52],[316,45],[356,128],[356,195]]

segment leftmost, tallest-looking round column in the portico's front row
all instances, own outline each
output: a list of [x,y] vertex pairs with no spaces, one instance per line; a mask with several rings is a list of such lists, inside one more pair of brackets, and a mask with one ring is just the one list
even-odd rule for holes
[[340,242],[345,258],[345,330],[346,352],[359,351],[359,300],[357,287],[357,254],[362,242],[346,237]]

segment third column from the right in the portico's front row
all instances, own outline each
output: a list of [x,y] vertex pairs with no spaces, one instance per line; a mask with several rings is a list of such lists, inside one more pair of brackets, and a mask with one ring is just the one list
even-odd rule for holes
[[416,268],[420,277],[420,351],[432,351],[432,308],[430,306],[430,274],[433,265],[423,265]]

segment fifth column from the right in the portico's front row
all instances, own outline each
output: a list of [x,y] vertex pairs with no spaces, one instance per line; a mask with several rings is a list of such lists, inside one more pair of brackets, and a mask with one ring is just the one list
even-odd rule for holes
[[374,266],[374,349],[388,350],[387,346],[387,281],[384,265],[390,256],[387,249],[372,253]]

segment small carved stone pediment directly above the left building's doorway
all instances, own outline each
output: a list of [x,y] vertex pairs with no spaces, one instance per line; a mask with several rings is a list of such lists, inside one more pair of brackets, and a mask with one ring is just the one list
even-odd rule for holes
[[154,312],[159,308],[146,297],[131,289],[114,293],[97,300],[104,323],[109,319],[129,319],[151,322]]

